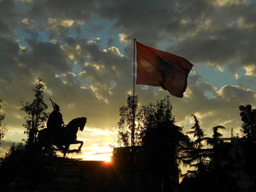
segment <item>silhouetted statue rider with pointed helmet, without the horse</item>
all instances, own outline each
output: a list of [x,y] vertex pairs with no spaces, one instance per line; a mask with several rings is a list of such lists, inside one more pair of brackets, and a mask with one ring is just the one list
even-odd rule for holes
[[[50,100],[51,101],[51,100]],[[52,102],[53,104],[53,112],[50,113],[48,121],[47,121],[47,128],[49,131],[52,132],[53,138],[59,139],[59,134],[62,132],[63,128],[63,119],[61,112],[59,112],[59,105]]]

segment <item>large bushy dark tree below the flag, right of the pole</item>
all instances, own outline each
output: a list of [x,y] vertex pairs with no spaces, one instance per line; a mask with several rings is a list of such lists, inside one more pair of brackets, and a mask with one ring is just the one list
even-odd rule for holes
[[[157,180],[155,191],[173,190],[178,184],[178,162],[186,155],[189,137],[175,125],[169,97],[143,106],[138,112],[148,172]],[[152,186],[154,187],[154,186]]]

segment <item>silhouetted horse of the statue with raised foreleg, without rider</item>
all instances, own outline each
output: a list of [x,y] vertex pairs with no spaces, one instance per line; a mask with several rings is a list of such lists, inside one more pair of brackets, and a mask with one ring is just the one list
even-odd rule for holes
[[53,132],[49,128],[44,128],[38,133],[37,141],[39,146],[48,147],[50,145],[56,145],[59,150],[62,150],[64,153],[64,158],[67,152],[69,151],[69,145],[79,144],[78,150],[80,151],[83,146],[83,141],[77,140],[78,129],[83,131],[84,126],[86,126],[87,118],[75,118],[71,120],[66,127],[61,128],[58,132],[58,138],[53,137]]

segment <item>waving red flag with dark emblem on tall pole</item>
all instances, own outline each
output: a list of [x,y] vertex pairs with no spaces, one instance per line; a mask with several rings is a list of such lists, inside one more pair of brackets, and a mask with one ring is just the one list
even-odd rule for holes
[[162,86],[170,94],[183,97],[192,64],[185,58],[162,50],[137,45],[137,84]]

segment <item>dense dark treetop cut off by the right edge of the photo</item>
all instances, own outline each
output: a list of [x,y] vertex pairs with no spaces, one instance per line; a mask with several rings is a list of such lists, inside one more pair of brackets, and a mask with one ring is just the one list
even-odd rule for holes
[[243,121],[241,131],[244,137],[249,140],[256,139],[256,109],[252,109],[252,105],[248,104],[246,107],[240,106],[240,116]]

